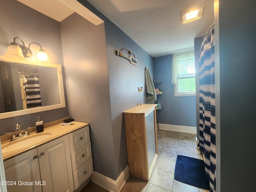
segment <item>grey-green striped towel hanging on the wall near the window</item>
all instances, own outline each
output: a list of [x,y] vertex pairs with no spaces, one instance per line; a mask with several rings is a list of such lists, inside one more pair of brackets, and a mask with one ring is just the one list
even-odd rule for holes
[[156,90],[155,90],[155,86],[154,86],[151,74],[147,67],[145,70],[145,82],[146,82],[146,95],[147,95],[148,103],[154,104],[156,102]]

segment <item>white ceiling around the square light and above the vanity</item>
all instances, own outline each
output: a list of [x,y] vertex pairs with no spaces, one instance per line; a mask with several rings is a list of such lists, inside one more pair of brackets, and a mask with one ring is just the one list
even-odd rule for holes
[[[102,22],[76,0],[18,1],[59,22],[73,12],[84,16],[94,24]],[[214,23],[214,0],[88,0],[88,2],[152,57],[194,49],[194,38],[204,36]],[[200,19],[186,24],[180,23],[181,11],[202,4],[205,5],[205,10]]]

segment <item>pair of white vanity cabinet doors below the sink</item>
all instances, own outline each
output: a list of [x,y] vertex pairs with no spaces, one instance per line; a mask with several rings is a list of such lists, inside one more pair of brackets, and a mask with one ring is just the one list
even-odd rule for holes
[[73,192],[71,166],[69,139],[65,135],[4,161],[6,181],[16,181],[7,190]]

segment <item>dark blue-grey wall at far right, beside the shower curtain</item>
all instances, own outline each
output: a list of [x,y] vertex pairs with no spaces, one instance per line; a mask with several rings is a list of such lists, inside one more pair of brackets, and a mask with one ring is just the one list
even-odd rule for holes
[[256,2],[215,10],[217,191],[256,188]]

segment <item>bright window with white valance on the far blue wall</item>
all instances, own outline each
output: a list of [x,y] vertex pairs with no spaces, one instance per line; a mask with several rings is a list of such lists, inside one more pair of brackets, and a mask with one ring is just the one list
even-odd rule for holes
[[173,55],[172,84],[174,84],[174,96],[196,95],[194,50]]

